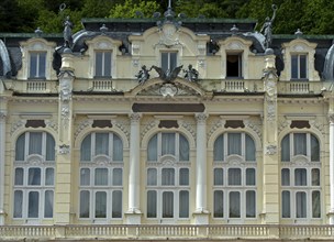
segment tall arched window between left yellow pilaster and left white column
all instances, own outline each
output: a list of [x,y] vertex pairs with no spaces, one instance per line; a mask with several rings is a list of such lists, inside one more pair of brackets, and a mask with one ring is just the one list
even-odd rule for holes
[[88,134],[80,148],[79,218],[122,218],[123,143],[112,132]]

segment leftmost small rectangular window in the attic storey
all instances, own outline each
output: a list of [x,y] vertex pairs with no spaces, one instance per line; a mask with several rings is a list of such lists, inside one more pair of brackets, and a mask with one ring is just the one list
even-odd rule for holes
[[45,78],[46,74],[46,52],[30,53],[30,78]]

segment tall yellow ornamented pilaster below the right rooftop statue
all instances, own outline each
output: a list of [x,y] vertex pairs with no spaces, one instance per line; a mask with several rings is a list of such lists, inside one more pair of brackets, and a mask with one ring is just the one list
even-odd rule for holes
[[272,50],[266,51],[264,70],[264,135],[263,135],[263,211],[264,223],[279,223],[279,161],[278,161],[278,117],[277,117],[277,74]]

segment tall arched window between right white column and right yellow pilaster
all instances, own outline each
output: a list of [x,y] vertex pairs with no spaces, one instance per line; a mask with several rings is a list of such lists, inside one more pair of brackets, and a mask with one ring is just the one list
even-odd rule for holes
[[218,136],[213,150],[213,217],[256,218],[256,150],[245,132]]

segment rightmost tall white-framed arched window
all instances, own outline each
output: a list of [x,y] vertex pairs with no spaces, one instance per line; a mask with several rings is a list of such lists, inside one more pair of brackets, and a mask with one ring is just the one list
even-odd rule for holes
[[281,141],[281,217],[321,218],[320,143],[311,133],[289,133]]

